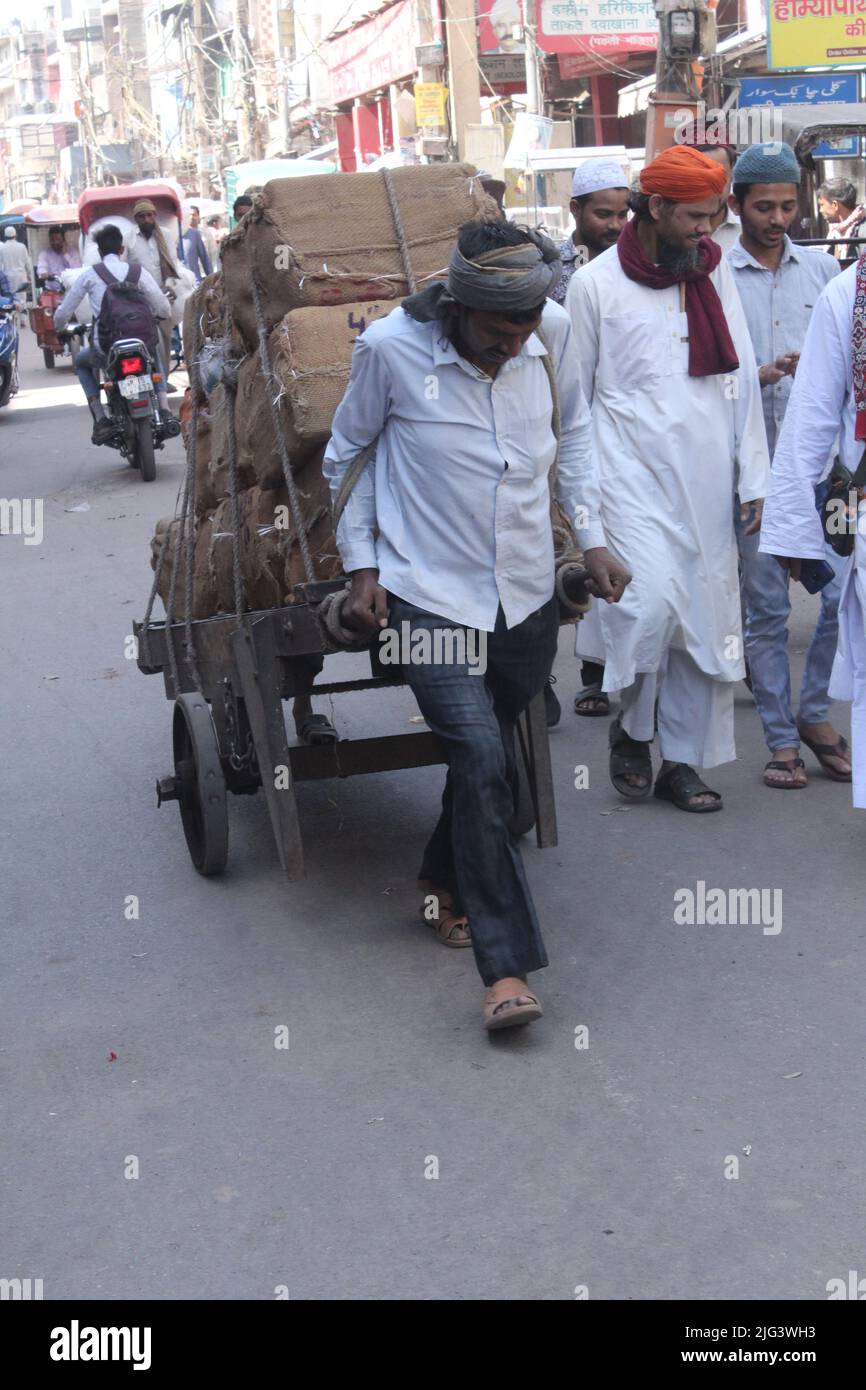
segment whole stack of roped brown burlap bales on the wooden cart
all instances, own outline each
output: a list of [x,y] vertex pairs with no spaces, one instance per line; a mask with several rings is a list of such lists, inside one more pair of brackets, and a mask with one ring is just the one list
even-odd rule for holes
[[321,467],[354,342],[445,274],[463,222],[499,215],[470,164],[265,185],[185,309],[181,425],[195,467],[183,516],[160,521],[152,543],[174,619],[188,616],[186,559],[171,589],[190,527],[193,619],[234,613],[239,598],[291,605],[295,585],[341,574]]

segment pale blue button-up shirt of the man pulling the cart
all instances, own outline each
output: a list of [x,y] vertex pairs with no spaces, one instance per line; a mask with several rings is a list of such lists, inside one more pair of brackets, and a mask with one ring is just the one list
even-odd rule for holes
[[[542,332],[562,416],[556,495],[588,549],[605,543],[598,477],[571,324],[557,304],[545,306]],[[350,460],[379,436],[336,532],[348,573],[378,569],[399,598],[488,632],[499,603],[514,627],[548,602],[556,439],[545,352],[532,334],[491,379],[439,324],[403,309],[367,328],[324,460],[336,496]]]

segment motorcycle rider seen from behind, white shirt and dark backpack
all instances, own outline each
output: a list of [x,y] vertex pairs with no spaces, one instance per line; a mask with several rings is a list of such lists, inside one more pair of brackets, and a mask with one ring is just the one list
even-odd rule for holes
[[[115,279],[125,279],[129,274],[129,265],[125,260],[121,260],[121,252],[124,249],[124,235],[118,227],[108,224],[100,228],[96,234],[96,247],[99,250],[100,259],[106,268],[111,271]],[[146,270],[142,270],[142,278],[139,279],[139,289],[142,291],[145,299],[150,304],[154,317],[171,318],[171,304],[168,303],[165,295]],[[72,288],[65,295],[63,304],[54,314],[54,328],[61,332],[74,310],[85,297],[89,296],[90,304],[93,307],[93,346],[83,348],[75,359],[75,371],[78,373],[78,379],[81,381],[83,393],[88,400],[90,414],[93,416],[93,434],[90,435],[93,443],[107,443],[114,434],[114,423],[106,417],[103,409],[101,395],[99,389],[99,381],[96,378],[97,367],[103,367],[106,363],[106,356],[99,343],[99,310],[103,302],[103,295],[106,293],[106,286],[99,278],[93,268],[86,270],[83,275],[79,275]],[[158,406],[158,423],[157,430],[163,439],[170,439],[181,432],[181,425],[171,414],[168,409],[168,395],[165,392],[165,370],[158,361],[163,381],[156,384],[157,406]]]

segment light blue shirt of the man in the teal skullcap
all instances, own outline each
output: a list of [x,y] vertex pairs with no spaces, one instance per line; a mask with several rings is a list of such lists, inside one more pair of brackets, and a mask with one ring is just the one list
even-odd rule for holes
[[[784,353],[799,352],[822,289],[840,272],[838,261],[826,252],[795,246],[785,236],[776,270],[755,260],[742,240],[727,253],[727,263],[737,281],[758,366],[767,367]],[[794,377],[783,377],[760,392],[770,457],[792,385]]]

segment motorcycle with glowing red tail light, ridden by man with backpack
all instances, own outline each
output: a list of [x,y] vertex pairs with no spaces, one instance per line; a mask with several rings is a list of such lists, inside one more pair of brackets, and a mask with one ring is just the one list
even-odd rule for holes
[[[88,336],[93,339],[93,328],[76,324],[65,328],[61,338]],[[163,448],[164,435],[157,406],[154,357],[139,338],[121,338],[108,349],[106,366],[100,370],[101,388],[106,392],[108,420],[114,424],[114,435],[106,439],[111,449],[118,449],[131,468],[139,468],[142,482],[156,478],[154,450]]]

